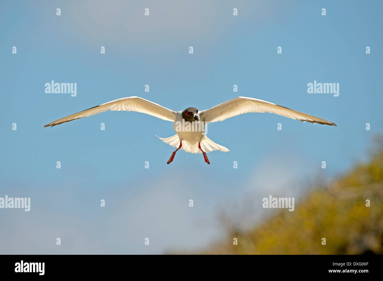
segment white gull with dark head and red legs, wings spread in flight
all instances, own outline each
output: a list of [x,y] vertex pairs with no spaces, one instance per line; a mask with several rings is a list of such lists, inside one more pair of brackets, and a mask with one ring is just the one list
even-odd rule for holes
[[169,138],[160,138],[170,146],[178,148],[172,153],[167,164],[173,161],[175,153],[178,149],[183,149],[185,152],[202,153],[205,162],[210,164],[206,152],[213,150],[229,151],[224,146],[218,145],[210,140],[205,135],[205,126],[210,122],[218,122],[237,116],[239,114],[249,112],[269,112],[282,115],[291,119],[298,119],[302,122],[319,123],[323,125],[336,126],[335,123],[327,120],[295,111],[287,107],[278,106],[268,101],[261,99],[254,99],[252,97],[236,97],[230,101],[218,104],[210,109],[201,110],[195,107],[188,107],[183,111],[174,111],[166,107],[160,106],[154,102],[142,99],[141,97],[123,97],[114,101],[100,104],[99,106],[83,110],[79,113],[69,115],[67,117],[53,121],[44,127],[56,126],[64,122],[69,122],[82,117],[87,117],[107,110],[123,110],[123,111],[136,111],[146,113],[160,119],[173,122],[174,130],[177,132],[174,136]]

